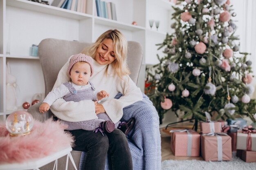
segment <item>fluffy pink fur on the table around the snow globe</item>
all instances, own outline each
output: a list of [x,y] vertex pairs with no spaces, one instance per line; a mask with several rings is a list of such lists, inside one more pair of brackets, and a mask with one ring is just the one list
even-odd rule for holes
[[34,120],[30,134],[11,137],[5,124],[0,124],[0,164],[22,162],[41,158],[74,144],[70,133],[64,132],[67,126],[59,121],[48,119],[45,122]]

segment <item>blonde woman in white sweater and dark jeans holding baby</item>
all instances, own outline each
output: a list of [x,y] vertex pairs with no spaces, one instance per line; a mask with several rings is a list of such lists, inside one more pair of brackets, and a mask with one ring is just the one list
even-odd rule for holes
[[[123,108],[142,100],[140,89],[128,76],[130,71],[126,64],[127,41],[118,30],[108,30],[96,40],[92,46],[82,53],[94,59],[94,75],[91,82],[98,88],[109,93],[108,99],[102,104],[92,101],[65,102],[58,99],[51,107],[58,118],[65,121],[85,121],[97,119],[97,114],[107,113],[117,123],[123,116]],[[54,87],[69,81],[66,73],[69,61],[61,68]],[[117,93],[123,94],[114,99]],[[107,153],[111,156],[112,169],[132,170],[132,158],[126,136],[119,129],[112,133],[92,133],[86,130],[71,130],[75,137],[74,150],[87,153],[86,167],[88,170],[103,170]]]

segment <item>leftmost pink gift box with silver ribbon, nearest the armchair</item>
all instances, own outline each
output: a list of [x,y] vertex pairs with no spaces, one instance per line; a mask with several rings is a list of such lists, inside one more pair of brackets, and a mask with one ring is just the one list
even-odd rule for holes
[[199,157],[200,134],[192,130],[173,132],[171,150],[174,156]]

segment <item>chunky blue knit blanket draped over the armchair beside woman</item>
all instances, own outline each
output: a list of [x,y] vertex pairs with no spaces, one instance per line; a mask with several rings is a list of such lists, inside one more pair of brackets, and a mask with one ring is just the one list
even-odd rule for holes
[[[121,93],[115,97],[119,99]],[[133,170],[161,170],[161,138],[159,117],[149,98],[143,94],[143,100],[127,106],[123,110],[121,121],[135,117],[135,127],[128,135],[128,144],[132,154]],[[85,170],[86,152],[81,153],[79,170]],[[109,158],[109,157],[108,157]],[[108,159],[105,170],[109,170]]]

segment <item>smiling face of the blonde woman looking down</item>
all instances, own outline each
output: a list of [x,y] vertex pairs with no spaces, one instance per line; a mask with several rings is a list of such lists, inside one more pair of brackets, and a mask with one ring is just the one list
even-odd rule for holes
[[110,64],[115,61],[113,40],[105,39],[96,50],[95,58],[100,65]]

